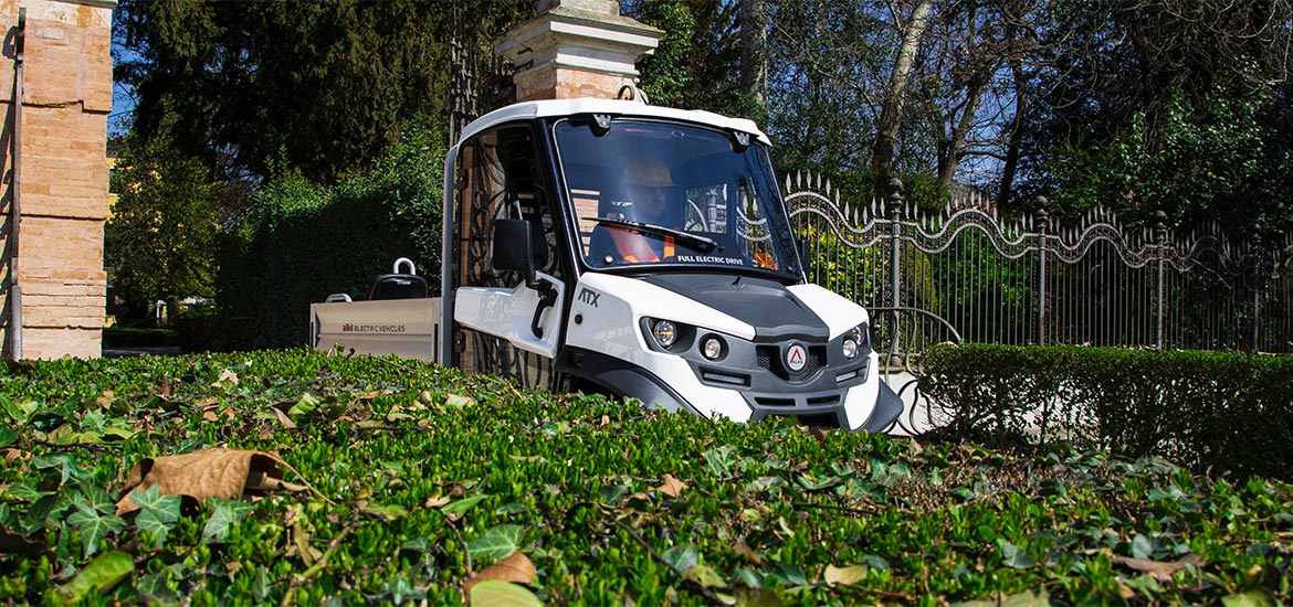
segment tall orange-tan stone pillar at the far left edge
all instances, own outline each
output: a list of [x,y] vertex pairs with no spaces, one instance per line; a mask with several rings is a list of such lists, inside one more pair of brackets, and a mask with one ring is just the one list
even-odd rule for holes
[[[8,34],[0,67],[5,137],[4,279],[5,355],[13,271],[12,203],[18,190],[17,279],[22,292],[22,358],[101,354],[105,318],[103,222],[107,217],[105,146],[112,108],[111,23],[115,0],[0,0]],[[18,128],[13,133],[18,10],[26,9]]]

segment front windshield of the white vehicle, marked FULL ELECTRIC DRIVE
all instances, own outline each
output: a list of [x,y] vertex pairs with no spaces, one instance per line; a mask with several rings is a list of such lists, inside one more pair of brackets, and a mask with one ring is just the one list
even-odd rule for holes
[[701,127],[560,121],[555,137],[591,267],[746,267],[798,276],[767,151]]

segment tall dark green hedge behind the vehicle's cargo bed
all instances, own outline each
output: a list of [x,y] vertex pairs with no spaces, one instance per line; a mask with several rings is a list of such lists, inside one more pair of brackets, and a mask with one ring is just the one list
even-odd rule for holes
[[330,293],[362,298],[400,257],[438,292],[445,154],[437,132],[410,128],[371,173],[335,187],[297,173],[270,181],[252,213],[222,234],[226,341],[217,347],[301,344],[310,304]]

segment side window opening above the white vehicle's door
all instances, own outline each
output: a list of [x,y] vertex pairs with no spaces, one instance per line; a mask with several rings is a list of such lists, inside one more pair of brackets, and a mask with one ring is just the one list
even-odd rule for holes
[[[458,284],[515,287],[521,276],[493,266],[494,220],[529,220],[535,244],[535,267],[556,275],[556,232],[552,196],[529,127],[489,130],[464,143],[458,160],[459,216]],[[539,245],[539,244],[543,245]]]

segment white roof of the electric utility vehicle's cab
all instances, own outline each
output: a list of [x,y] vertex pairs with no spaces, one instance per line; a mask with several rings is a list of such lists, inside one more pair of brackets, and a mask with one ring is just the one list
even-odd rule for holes
[[753,120],[743,118],[728,118],[705,110],[679,110],[675,107],[649,106],[639,101],[622,99],[544,99],[513,103],[507,107],[494,110],[463,129],[463,139],[480,133],[491,127],[513,121],[537,118],[573,116],[579,114],[609,114],[613,116],[658,118],[680,120],[701,125],[716,127],[724,130],[740,130],[755,136],[765,145],[772,145],[768,136],[759,130]]

